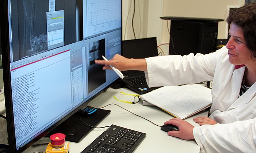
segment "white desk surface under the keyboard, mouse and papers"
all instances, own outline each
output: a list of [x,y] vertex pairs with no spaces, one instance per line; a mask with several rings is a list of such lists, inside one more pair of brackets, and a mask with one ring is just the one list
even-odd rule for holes
[[[115,103],[132,111],[135,114],[138,114],[142,117],[149,119],[157,125],[163,125],[163,123],[171,118],[171,115],[167,114],[163,110],[158,107],[153,106],[143,106],[142,102],[136,104],[129,104],[124,102],[116,101],[113,96],[116,96],[120,100],[132,101],[133,97],[128,95],[120,94],[120,91],[124,93],[132,93],[133,91],[128,90],[126,88],[121,89],[112,89],[109,88],[105,93],[102,93],[98,97],[96,97],[93,101],[89,103],[89,106],[93,106],[96,108],[106,106],[110,103]],[[208,90],[207,90],[208,92]],[[207,93],[208,94],[208,93]],[[118,125],[123,126],[128,129],[137,130],[139,132],[147,133],[144,140],[141,144],[136,148],[135,153],[144,153],[144,152],[166,152],[170,150],[170,152],[191,152],[191,153],[199,153],[200,146],[196,144],[195,141],[187,141],[181,140],[179,138],[167,136],[166,132],[160,130],[160,127],[137,117],[128,111],[121,109],[115,105],[109,105],[103,109],[111,110],[111,113],[103,119],[98,125],[100,126],[108,126],[108,125]],[[185,121],[190,122],[194,126],[199,126],[195,123],[192,118],[198,116],[207,116],[208,112],[202,111],[190,118],[185,119]],[[79,143],[70,142],[70,152],[71,153],[79,153],[84,148],[86,148],[91,142],[93,142],[103,131],[107,128],[103,129],[93,129],[86,137],[84,137]],[[184,147],[185,146],[185,147]],[[39,151],[45,151],[46,145],[40,146],[31,146],[27,150],[26,153],[34,153]]]

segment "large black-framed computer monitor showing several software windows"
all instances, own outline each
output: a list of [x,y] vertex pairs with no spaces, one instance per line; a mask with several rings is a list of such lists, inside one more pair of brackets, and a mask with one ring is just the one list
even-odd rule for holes
[[[121,0],[1,0],[10,152],[22,152],[118,79]],[[70,128],[72,125],[70,125]]]

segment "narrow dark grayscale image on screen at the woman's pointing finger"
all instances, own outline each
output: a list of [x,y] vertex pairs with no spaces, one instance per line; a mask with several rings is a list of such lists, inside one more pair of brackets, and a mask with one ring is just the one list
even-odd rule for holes
[[106,70],[102,65],[95,64],[95,59],[105,56],[105,39],[89,44],[90,66],[88,66],[88,90],[89,93],[106,82]]

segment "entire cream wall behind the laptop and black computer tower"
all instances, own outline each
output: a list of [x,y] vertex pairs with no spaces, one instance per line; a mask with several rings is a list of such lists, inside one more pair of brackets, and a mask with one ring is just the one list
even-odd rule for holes
[[[186,16],[226,19],[229,7],[239,7],[245,0],[135,0],[133,20],[136,38],[157,36],[158,44],[169,43],[167,20],[161,16]],[[133,0],[123,0],[123,40],[134,39],[132,31]],[[129,6],[131,6],[125,31]],[[170,21],[169,21],[170,26]],[[170,28],[170,27],[169,27]],[[226,39],[226,22],[219,22],[218,39]],[[169,46],[161,46],[168,54]]]

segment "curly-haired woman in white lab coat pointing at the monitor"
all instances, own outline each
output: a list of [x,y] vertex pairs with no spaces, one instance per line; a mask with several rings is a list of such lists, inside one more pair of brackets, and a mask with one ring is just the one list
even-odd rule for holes
[[149,87],[213,80],[210,116],[194,118],[199,127],[173,118],[168,135],[196,140],[201,152],[256,152],[256,3],[230,11],[230,39],[207,54],[127,59],[116,55],[103,69],[145,71]]

